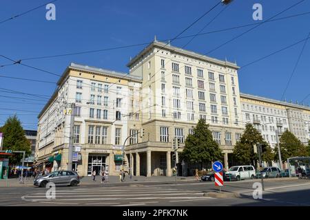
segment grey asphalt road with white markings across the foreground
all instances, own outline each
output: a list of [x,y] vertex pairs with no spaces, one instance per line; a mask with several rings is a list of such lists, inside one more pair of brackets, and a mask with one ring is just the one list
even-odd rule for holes
[[303,179],[265,181],[262,199],[254,199],[253,184],[259,180],[225,182],[222,191],[238,192],[238,198],[205,197],[218,190],[214,182],[124,183],[56,187],[56,199],[47,199],[48,189],[0,188],[0,206],[310,206],[310,181]]

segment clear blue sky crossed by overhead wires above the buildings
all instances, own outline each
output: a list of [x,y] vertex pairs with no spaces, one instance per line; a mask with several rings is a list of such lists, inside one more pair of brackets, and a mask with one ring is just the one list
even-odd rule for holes
[[[16,19],[1,23],[16,14],[50,2],[1,0],[0,55],[14,61],[22,60],[22,64],[59,75],[72,62],[128,72],[126,64],[130,61],[130,57],[134,57],[146,45],[73,56],[25,61],[23,59],[149,43],[154,40],[155,35],[158,41],[174,39],[218,1],[58,0],[54,2],[56,6],[55,21],[48,21],[45,18],[48,10],[41,7]],[[201,33],[267,21],[299,1],[301,0],[234,0],[228,6],[220,4],[180,36],[197,34],[225,7],[227,8]],[[254,21],[252,17],[255,3],[262,5],[262,21]],[[310,1],[308,0],[283,12],[275,19],[304,12],[310,12]],[[304,14],[263,23],[258,28],[243,34],[217,50],[214,49],[218,45],[222,45],[254,26],[203,34],[196,36],[192,42],[186,45],[185,49],[208,54],[208,56],[222,60],[226,58],[227,61],[236,61],[237,65],[242,67],[306,39],[310,32],[309,21],[310,14]],[[176,39],[172,41],[172,45],[183,47],[189,39]],[[278,54],[242,67],[238,71],[240,91],[281,100],[287,82],[293,73],[283,99],[300,103],[310,94],[310,42],[304,46],[300,56],[303,46],[304,42],[298,43]],[[8,64],[12,64],[12,61],[0,57],[0,66]],[[293,69],[296,69],[295,72]],[[1,76],[44,80],[49,83]],[[37,115],[56,89],[57,80],[59,80],[59,76],[19,64],[0,67],[0,126],[8,116],[16,113],[24,129],[37,129]],[[40,97],[17,94],[14,91],[3,89],[37,94]],[[304,100],[304,104],[310,104],[310,96]]]

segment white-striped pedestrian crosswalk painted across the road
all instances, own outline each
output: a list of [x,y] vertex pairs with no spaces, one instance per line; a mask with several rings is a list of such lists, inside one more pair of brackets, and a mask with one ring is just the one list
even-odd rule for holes
[[104,186],[93,188],[56,188],[54,199],[48,199],[48,189],[39,189],[21,199],[33,203],[80,206],[178,206],[182,202],[213,199],[203,192],[181,190],[172,186]]

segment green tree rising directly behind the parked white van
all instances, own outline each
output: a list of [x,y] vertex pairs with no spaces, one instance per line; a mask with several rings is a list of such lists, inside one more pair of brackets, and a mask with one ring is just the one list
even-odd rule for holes
[[256,166],[258,154],[254,153],[254,144],[262,144],[262,160],[271,162],[274,158],[272,148],[262,138],[261,133],[252,124],[245,125],[245,132],[234,147],[233,157],[240,164]]

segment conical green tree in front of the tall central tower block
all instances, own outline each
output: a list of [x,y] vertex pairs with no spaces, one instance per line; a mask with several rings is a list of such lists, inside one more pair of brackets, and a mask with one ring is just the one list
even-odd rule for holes
[[200,119],[194,128],[194,134],[189,134],[185,140],[185,148],[180,153],[181,159],[191,163],[215,162],[222,157],[222,150],[213,140],[209,124]]

